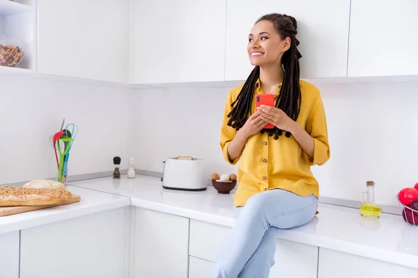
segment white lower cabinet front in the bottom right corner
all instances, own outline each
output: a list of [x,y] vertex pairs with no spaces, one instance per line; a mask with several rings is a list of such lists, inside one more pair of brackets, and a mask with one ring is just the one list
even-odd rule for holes
[[418,277],[418,270],[362,256],[319,249],[318,278]]

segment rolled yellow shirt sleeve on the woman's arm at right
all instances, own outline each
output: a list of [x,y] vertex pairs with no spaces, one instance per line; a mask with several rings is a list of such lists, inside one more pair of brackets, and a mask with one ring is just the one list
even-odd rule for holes
[[303,156],[308,165],[323,165],[330,159],[330,144],[328,142],[327,119],[325,109],[320,95],[316,99],[314,106],[306,124],[306,131],[314,138],[314,157],[309,157],[305,152]]

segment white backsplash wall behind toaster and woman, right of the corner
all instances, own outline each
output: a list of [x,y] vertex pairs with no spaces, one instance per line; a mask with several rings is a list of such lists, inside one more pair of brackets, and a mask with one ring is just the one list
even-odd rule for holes
[[[331,158],[313,167],[320,195],[359,201],[367,180],[380,204],[418,181],[418,83],[318,85],[330,133]],[[162,172],[169,156],[191,155],[212,172],[224,162],[219,127],[229,88],[144,89],[134,92],[136,167]]]

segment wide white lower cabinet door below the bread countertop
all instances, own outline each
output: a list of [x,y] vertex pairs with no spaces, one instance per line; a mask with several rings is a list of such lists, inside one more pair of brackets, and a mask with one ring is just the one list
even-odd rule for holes
[[21,278],[127,278],[129,208],[21,231]]

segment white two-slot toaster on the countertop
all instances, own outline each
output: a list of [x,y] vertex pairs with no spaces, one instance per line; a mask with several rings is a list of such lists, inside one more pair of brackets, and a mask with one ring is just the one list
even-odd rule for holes
[[206,190],[208,181],[203,173],[203,160],[192,156],[177,156],[162,161],[162,187],[177,190]]

